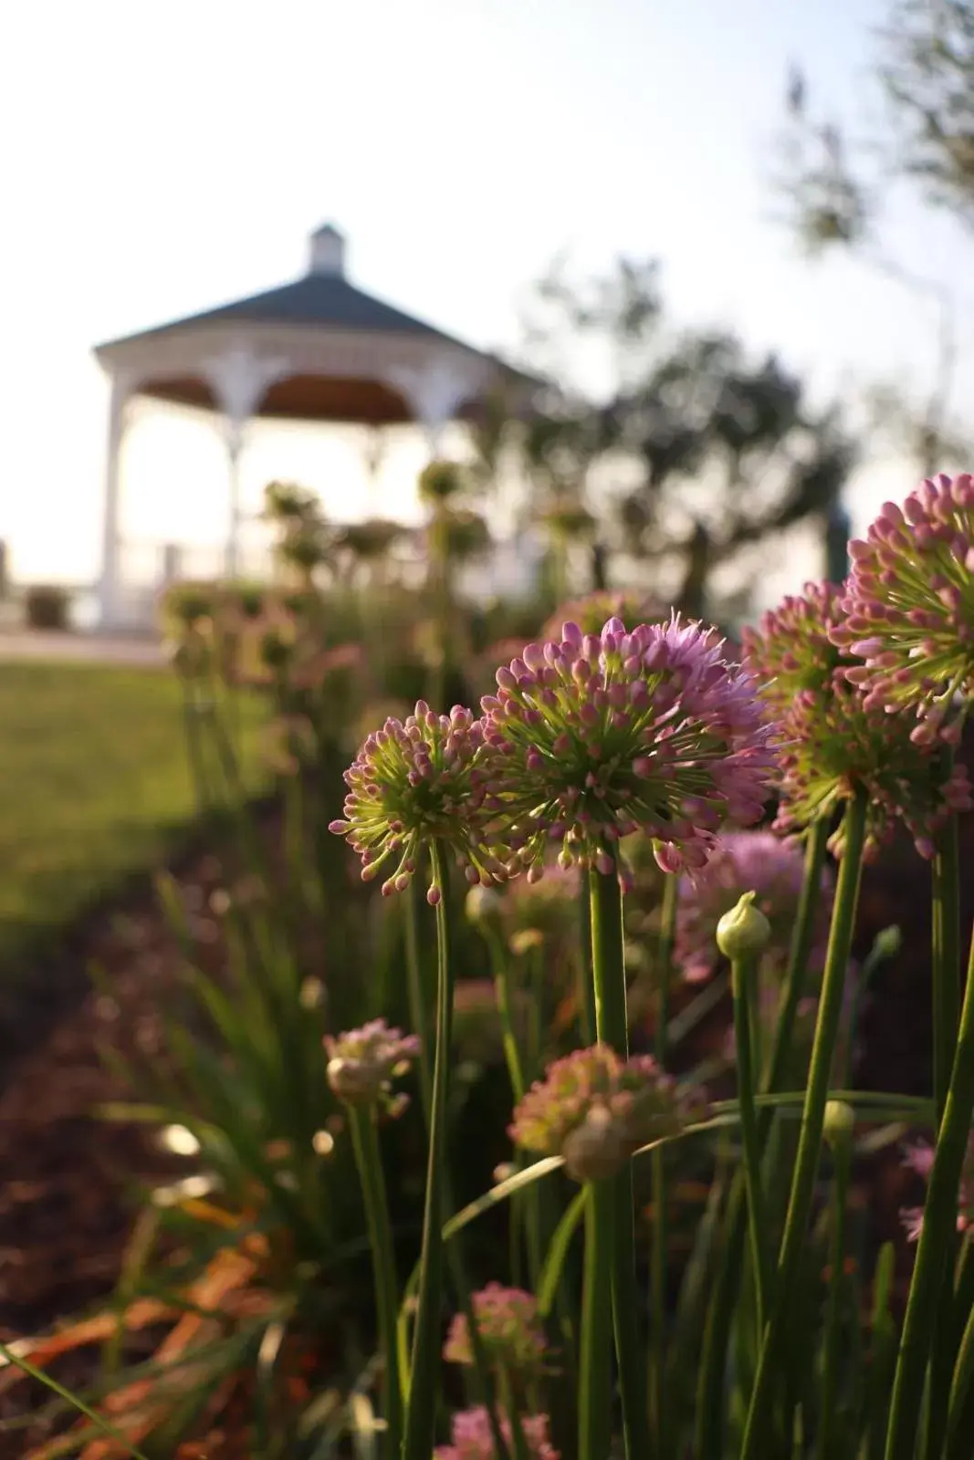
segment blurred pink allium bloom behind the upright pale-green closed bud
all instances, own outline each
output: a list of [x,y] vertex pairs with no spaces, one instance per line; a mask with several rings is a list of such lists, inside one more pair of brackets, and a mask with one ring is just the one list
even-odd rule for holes
[[[699,983],[713,974],[718,958],[717,924],[748,891],[756,894],[755,907],[771,924],[764,962],[780,972],[787,961],[803,882],[805,857],[797,842],[783,841],[770,831],[721,837],[704,870],[694,880],[680,879],[675,955],[683,978]],[[825,867],[810,953],[810,967],[818,969],[825,962],[832,885],[832,875]]]

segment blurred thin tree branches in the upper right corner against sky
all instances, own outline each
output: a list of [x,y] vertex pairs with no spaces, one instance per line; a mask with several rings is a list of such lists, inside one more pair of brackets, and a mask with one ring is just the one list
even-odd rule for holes
[[845,127],[815,117],[806,77],[793,69],[775,185],[810,257],[845,248],[933,305],[936,356],[924,402],[917,409],[889,387],[872,402],[873,425],[892,428],[895,445],[929,474],[970,450],[951,420],[958,301],[882,250],[881,218],[891,187],[907,182],[929,206],[974,229],[974,0],[892,0],[876,36],[875,73],[889,123],[879,149],[854,146]]

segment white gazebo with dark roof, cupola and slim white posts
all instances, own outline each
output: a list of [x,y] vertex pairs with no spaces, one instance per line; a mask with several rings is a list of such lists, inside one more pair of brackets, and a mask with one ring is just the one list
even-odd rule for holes
[[384,426],[415,422],[435,453],[442,428],[476,415],[498,387],[526,402],[536,383],[375,299],[346,277],[345,238],[311,235],[308,270],[294,283],[237,299],[140,334],[110,340],[95,358],[111,383],[102,559],[102,628],[121,626],[118,456],[134,396],[219,416],[229,492],[225,572],[239,565],[239,461],[253,418]]

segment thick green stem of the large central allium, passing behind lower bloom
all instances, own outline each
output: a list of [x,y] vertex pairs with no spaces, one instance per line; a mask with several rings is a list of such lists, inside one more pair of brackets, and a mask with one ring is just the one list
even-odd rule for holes
[[[596,1037],[624,1058],[629,1053],[622,937],[622,892],[616,867],[610,873],[588,873],[591,908],[591,981],[596,997]],[[594,1202],[596,1241],[609,1251],[612,1264],[612,1320],[615,1327],[622,1428],[628,1460],[645,1460],[650,1451],[650,1421],[645,1368],[640,1362],[640,1320],[635,1307],[635,1218],[632,1168],[626,1162],[613,1178],[613,1202]],[[605,1228],[610,1222],[610,1228]]]

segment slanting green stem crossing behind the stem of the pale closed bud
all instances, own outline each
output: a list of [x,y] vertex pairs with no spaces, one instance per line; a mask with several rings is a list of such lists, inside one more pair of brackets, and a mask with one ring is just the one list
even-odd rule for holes
[[[770,1069],[762,1082],[762,1089],[768,1095],[783,1089],[789,1072],[794,1021],[805,994],[809,955],[815,940],[815,920],[821,898],[828,834],[829,826],[827,821],[813,822],[808,834],[805,877],[791,934],[791,948],[789,950],[789,968],[774,1029]],[[758,1110],[758,1142],[762,1152],[768,1143],[772,1123],[774,1107],[762,1105]],[[697,1386],[697,1435],[694,1448],[697,1460],[723,1460],[724,1456],[724,1372],[730,1324],[733,1321],[737,1282],[740,1279],[745,1223],[745,1181],[743,1172],[739,1171],[727,1199],[726,1238],[718,1257],[714,1296],[704,1329],[704,1352]]]

